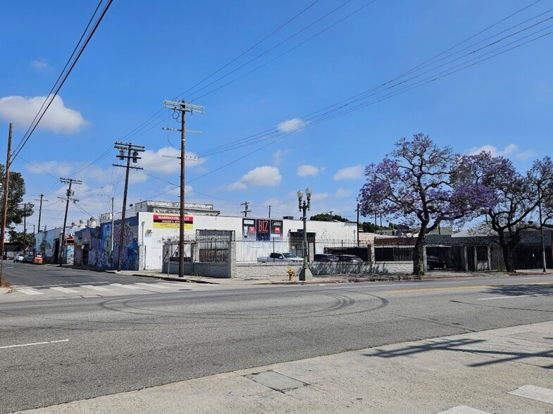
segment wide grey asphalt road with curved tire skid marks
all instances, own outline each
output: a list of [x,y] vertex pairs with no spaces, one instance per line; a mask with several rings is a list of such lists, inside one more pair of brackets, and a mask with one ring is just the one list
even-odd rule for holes
[[[39,277],[49,277],[49,284],[93,283],[90,277],[114,277],[123,283],[105,273],[35,275],[44,269],[22,267],[20,281],[32,276],[39,284],[44,282]],[[30,276],[23,275],[27,271]],[[145,294],[129,289],[77,299],[14,301],[10,295],[0,296],[0,410],[6,413],[553,319],[551,275]]]

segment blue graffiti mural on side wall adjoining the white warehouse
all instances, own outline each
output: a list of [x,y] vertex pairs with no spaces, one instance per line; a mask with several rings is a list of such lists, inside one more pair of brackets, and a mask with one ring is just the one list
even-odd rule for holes
[[[123,257],[122,270],[138,270],[138,243],[135,237],[137,218],[125,220],[123,230]],[[132,225],[135,224],[133,229]],[[95,268],[116,268],[119,258],[120,223],[115,223],[113,239],[113,255],[111,248],[111,222],[103,223],[100,227],[80,230],[75,234],[75,264],[94,266]],[[113,258],[113,259],[112,259]]]

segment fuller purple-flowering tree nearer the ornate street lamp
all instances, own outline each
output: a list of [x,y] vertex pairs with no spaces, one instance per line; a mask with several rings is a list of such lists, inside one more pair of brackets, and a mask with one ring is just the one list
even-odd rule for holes
[[422,275],[426,234],[442,222],[476,217],[483,207],[493,205],[494,193],[478,182],[458,180],[461,157],[449,146],[439,148],[428,135],[402,138],[395,146],[383,161],[366,166],[366,182],[358,197],[360,212],[391,215],[418,228],[413,273]]

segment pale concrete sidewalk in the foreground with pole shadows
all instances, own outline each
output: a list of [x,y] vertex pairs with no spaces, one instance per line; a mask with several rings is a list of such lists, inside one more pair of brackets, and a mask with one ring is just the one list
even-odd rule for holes
[[23,413],[553,413],[553,321],[226,372]]

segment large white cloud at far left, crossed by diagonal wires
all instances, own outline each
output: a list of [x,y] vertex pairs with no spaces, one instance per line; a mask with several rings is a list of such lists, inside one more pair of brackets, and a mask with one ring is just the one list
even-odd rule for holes
[[[0,118],[13,123],[16,127],[28,127],[35,119],[46,96],[4,96],[0,98]],[[60,96],[56,96],[40,121],[38,129],[61,134],[80,132],[88,125],[80,112],[67,108]]]

